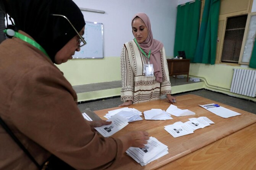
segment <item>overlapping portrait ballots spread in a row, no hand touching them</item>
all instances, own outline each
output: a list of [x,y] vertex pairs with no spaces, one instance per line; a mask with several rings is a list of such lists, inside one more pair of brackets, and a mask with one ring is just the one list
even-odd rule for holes
[[175,122],[172,125],[165,126],[165,130],[170,133],[174,138],[188,135],[190,133],[194,133],[194,130],[199,128],[204,128],[206,126],[210,126],[210,124],[214,124],[207,117],[198,117],[188,119],[188,122]]

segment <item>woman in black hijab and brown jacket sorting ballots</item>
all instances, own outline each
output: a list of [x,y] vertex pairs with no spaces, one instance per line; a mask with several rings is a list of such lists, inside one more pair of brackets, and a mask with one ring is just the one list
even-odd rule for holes
[[76,92],[53,64],[86,44],[78,6],[71,0],[4,2],[18,32],[6,30],[14,37],[0,44],[0,117],[25,149],[0,126],[0,169],[40,169],[49,157],[56,169],[113,168],[129,147],[143,148],[147,132],[100,136],[94,127],[111,122],[84,120]]

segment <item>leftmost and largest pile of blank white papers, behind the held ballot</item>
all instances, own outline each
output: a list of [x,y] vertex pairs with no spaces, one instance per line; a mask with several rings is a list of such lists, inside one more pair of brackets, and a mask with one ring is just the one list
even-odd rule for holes
[[113,111],[109,111],[109,113],[107,113],[104,117],[109,119],[110,117],[112,117],[115,114],[118,114],[118,115],[124,117],[125,119],[128,119],[129,120],[128,122],[143,120],[140,117],[142,115],[142,113],[140,111],[138,111],[137,109],[128,108],[128,107],[124,107],[124,108],[121,108],[121,109],[115,109]]

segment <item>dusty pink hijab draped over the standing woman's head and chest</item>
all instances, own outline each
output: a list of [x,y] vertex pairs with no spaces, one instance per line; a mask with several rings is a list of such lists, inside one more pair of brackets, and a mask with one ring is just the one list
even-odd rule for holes
[[[137,16],[141,18],[145,23],[148,31],[146,40],[138,44],[146,54],[148,54],[149,50],[151,50],[149,63],[154,64],[154,75],[156,76],[157,82],[162,82],[162,66],[159,50],[164,47],[164,44],[158,40],[153,39],[149,17],[145,13],[137,13],[133,16],[133,19]],[[133,19],[131,20],[131,25],[133,25]]]

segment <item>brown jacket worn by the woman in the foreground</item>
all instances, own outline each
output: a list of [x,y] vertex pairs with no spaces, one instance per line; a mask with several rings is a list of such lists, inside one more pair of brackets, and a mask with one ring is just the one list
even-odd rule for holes
[[[52,153],[76,169],[114,166],[122,142],[91,131],[76,101],[63,73],[40,50],[19,38],[0,44],[0,116],[37,162]],[[2,126],[0,169],[37,169]]]

